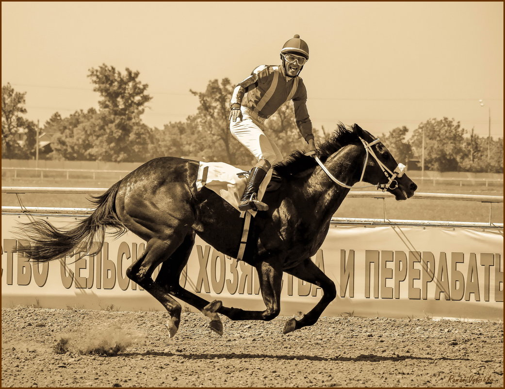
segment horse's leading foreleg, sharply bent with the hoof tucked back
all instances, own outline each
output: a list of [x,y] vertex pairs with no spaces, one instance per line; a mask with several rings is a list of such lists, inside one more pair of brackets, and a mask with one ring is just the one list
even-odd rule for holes
[[337,295],[335,288],[335,283],[326,276],[315,264],[311,261],[311,258],[307,258],[299,266],[286,270],[286,273],[292,274],[293,276],[299,278],[300,280],[310,282],[323,289],[323,297],[319,300],[318,304],[307,314],[305,314],[301,319],[296,320],[295,318],[289,319],[285,326],[283,333],[288,333],[294,331],[295,329],[311,326],[315,324],[323,311],[328,307],[331,301],[333,301]]

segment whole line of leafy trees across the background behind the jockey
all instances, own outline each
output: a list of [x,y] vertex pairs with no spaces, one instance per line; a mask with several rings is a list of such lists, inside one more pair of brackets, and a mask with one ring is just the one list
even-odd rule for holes
[[[147,94],[148,85],[139,80],[138,71],[126,68],[120,72],[103,64],[89,69],[88,77],[100,96],[99,108],[78,110],[68,117],[56,112],[45,122],[42,132],[54,134],[52,159],[142,162],[185,156],[235,165],[254,161],[229,131],[228,102],[234,85],[228,78],[210,80],[203,92],[190,90],[198,98],[196,113],[160,129],[142,122],[141,115],[152,97]],[[23,116],[25,95],[14,91],[9,83],[2,87],[4,158],[33,158],[35,154],[36,126]],[[330,135],[321,130],[324,138]],[[307,146],[298,132],[291,102],[272,115],[264,131],[284,156]],[[503,172],[503,138],[490,141],[488,158],[487,137],[475,135],[473,129],[468,134],[455,119],[431,118],[420,123],[410,138],[406,126],[396,127],[382,134],[381,140],[399,162],[406,163],[420,159],[423,134],[427,170]],[[316,128],[314,135],[321,138]]]

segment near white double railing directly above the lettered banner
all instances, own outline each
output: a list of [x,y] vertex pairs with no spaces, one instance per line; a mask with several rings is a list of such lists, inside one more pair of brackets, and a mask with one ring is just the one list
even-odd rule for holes
[[[107,191],[109,188],[62,188],[62,187],[2,187],[2,193],[52,193],[52,194],[101,194]],[[375,192],[375,191],[350,191],[347,197],[351,198],[377,198],[385,201],[386,198],[392,198],[392,195],[387,192]],[[493,203],[503,203],[503,196],[490,196],[490,195],[467,195],[467,194],[452,194],[452,193],[415,193],[412,199],[417,200],[456,200],[456,201],[475,201],[482,203],[489,203],[489,224],[487,226],[497,225],[496,223],[491,223],[492,208]],[[381,223],[386,223],[388,219],[386,218],[386,207],[384,209],[384,217]],[[19,207],[19,206],[2,206],[2,212],[28,212],[28,213],[59,213],[59,214],[89,214],[93,211],[93,208],[54,208],[54,207]],[[335,221],[344,220],[350,222],[354,220],[365,220],[365,219],[349,219],[349,218],[333,218]],[[332,219],[332,221],[333,221]],[[368,220],[368,219],[367,219]],[[372,219],[368,220],[371,221]],[[380,220],[380,219],[379,219]],[[374,221],[376,221],[374,219]],[[390,221],[389,221],[390,222]],[[404,221],[407,224],[424,224],[424,221]],[[430,222],[431,223],[431,222]],[[437,225],[449,222],[432,222]],[[450,222],[451,225],[454,222]],[[482,223],[478,223],[481,225]],[[468,223],[466,224],[468,225]],[[472,223],[474,225],[474,223]]]

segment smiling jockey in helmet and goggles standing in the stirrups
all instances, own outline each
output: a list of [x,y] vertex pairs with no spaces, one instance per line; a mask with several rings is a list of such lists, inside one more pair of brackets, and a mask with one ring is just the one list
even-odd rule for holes
[[[230,131],[233,137],[256,157],[238,208],[242,211],[268,210],[258,192],[272,177],[272,165],[282,160],[275,143],[263,132],[265,120],[285,102],[292,100],[296,125],[301,136],[315,150],[312,122],[307,111],[307,91],[299,77],[309,60],[309,46],[294,35],[282,47],[281,65],[260,65],[234,89],[230,101]],[[265,180],[265,178],[267,179]]]

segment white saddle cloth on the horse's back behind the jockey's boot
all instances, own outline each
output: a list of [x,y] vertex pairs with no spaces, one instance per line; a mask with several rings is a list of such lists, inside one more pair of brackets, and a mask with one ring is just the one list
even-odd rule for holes
[[[196,189],[201,190],[204,186],[229,202],[236,210],[245,190],[246,177],[238,177],[237,173],[243,172],[235,166],[224,162],[200,162],[198,176],[196,178]],[[270,175],[269,175],[270,176]],[[269,177],[267,177],[269,178]],[[258,192],[258,198],[262,199],[269,180],[263,180]],[[249,211],[252,216],[256,211]]]

